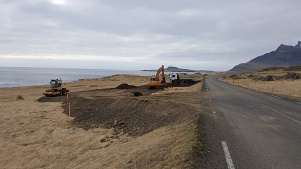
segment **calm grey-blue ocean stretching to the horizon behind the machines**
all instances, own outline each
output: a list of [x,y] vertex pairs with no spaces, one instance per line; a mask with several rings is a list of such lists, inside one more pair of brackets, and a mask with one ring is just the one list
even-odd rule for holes
[[[165,72],[165,74],[169,73],[171,72]],[[115,74],[151,76],[155,75],[156,72],[81,68],[0,67],[0,87],[49,84],[50,79],[56,78],[61,78],[64,82],[70,82],[83,78],[101,78]]]

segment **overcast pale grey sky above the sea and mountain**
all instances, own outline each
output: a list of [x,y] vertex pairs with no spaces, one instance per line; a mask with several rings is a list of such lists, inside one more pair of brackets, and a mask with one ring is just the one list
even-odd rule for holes
[[0,0],[0,66],[225,71],[301,40],[301,0]]

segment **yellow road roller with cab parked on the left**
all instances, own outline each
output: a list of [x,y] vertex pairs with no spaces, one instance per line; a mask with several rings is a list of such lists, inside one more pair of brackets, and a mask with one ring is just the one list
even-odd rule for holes
[[51,79],[50,88],[43,92],[47,97],[57,96],[57,95],[67,95],[70,90],[70,87],[63,83],[62,79]]

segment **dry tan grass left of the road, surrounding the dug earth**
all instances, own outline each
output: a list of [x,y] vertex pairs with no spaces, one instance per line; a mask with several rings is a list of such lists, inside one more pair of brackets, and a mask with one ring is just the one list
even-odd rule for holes
[[[72,91],[144,85],[148,77],[117,75],[70,82]],[[189,87],[187,87],[189,88]],[[198,89],[191,87],[190,90]],[[165,126],[138,137],[106,128],[71,125],[60,102],[37,102],[48,85],[1,88],[0,166],[3,168],[188,168],[197,121]],[[26,99],[16,100],[18,95]],[[100,142],[104,137],[105,142]]]

